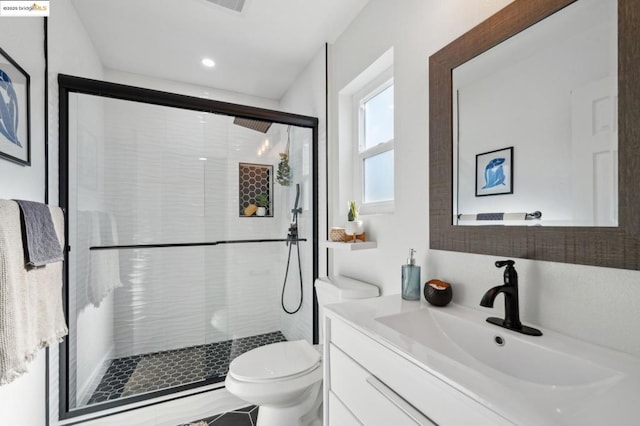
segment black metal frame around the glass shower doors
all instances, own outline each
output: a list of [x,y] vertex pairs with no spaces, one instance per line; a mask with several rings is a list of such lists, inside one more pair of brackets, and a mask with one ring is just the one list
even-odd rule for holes
[[[173,108],[181,108],[192,111],[208,112],[213,114],[234,116],[247,118],[251,120],[270,121],[284,125],[298,126],[309,128],[312,130],[312,201],[313,201],[313,282],[319,275],[319,239],[318,239],[318,118],[299,114],[292,114],[282,111],[270,110],[265,108],[257,108],[246,105],[239,105],[229,102],[215,101],[211,99],[198,98],[176,93],[163,92],[159,90],[145,89],[140,87],[128,86],[124,84],[111,83],[101,80],[76,77],[71,75],[58,75],[58,102],[59,102],[59,205],[65,212],[65,223],[69,223],[69,95],[71,93],[102,96],[106,98],[120,99],[125,101],[141,102],[151,105],[159,105]],[[69,323],[69,230],[65,227],[65,262],[63,271],[63,306],[67,324]],[[313,343],[318,343],[318,301],[315,288],[313,289]],[[162,389],[143,395],[131,396],[121,400],[107,401],[94,406],[83,408],[69,409],[69,340],[65,338],[59,345],[59,419],[72,419],[74,417],[85,416],[87,414],[97,414],[92,418],[100,418],[107,415],[116,414],[117,412],[127,411],[127,405],[138,403],[141,401],[149,401],[148,404],[153,405],[160,402],[166,402],[171,399],[183,398],[189,395],[179,395],[175,398],[163,399],[162,401],[153,401],[158,397],[183,392],[186,390],[196,389],[202,386],[211,385],[220,381],[219,378],[213,378],[201,382],[190,383],[173,388]],[[208,392],[210,389],[203,390]],[[144,406],[143,405],[143,406]],[[122,407],[109,414],[100,415],[99,412]],[[139,408],[140,406],[136,406]],[[131,408],[129,408],[131,409]],[[70,423],[74,424],[74,423]]]

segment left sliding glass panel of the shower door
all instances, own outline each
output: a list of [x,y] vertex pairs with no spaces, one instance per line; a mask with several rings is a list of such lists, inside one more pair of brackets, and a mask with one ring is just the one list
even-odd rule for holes
[[148,354],[205,343],[205,250],[114,246],[205,241],[205,127],[224,117],[77,94],[70,110],[69,399],[79,407],[175,385],[155,364],[136,372]]

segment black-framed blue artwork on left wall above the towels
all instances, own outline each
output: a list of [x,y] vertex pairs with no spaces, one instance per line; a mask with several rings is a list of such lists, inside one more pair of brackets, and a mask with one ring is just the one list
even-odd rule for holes
[[0,49],[0,157],[31,165],[29,74]]

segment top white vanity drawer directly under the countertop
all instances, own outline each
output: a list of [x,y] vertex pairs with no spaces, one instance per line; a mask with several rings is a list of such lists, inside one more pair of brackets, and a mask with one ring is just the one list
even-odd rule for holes
[[[513,424],[339,318],[332,317],[329,324],[329,338],[332,344],[351,359],[356,360],[356,365],[359,364],[361,368],[392,388],[398,396],[424,413],[434,423],[473,424],[474,426]],[[332,355],[333,353],[330,356],[331,364],[334,361]],[[332,388],[333,380],[332,375],[330,378]],[[348,407],[351,407],[342,396],[339,394],[338,396]],[[358,416],[357,413],[356,416]]]

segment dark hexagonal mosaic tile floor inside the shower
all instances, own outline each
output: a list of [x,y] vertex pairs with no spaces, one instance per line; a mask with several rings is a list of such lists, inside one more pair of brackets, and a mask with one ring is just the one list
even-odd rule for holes
[[100,380],[89,404],[124,398],[213,378],[223,378],[238,355],[282,342],[280,331],[236,340],[116,358]]

